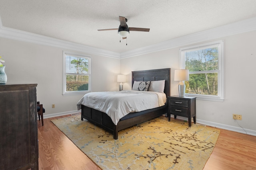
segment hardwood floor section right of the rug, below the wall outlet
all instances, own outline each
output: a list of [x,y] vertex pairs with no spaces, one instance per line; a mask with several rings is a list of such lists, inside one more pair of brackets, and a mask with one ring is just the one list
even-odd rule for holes
[[[217,128],[216,128],[217,129]],[[256,136],[220,129],[204,170],[256,170]]]

